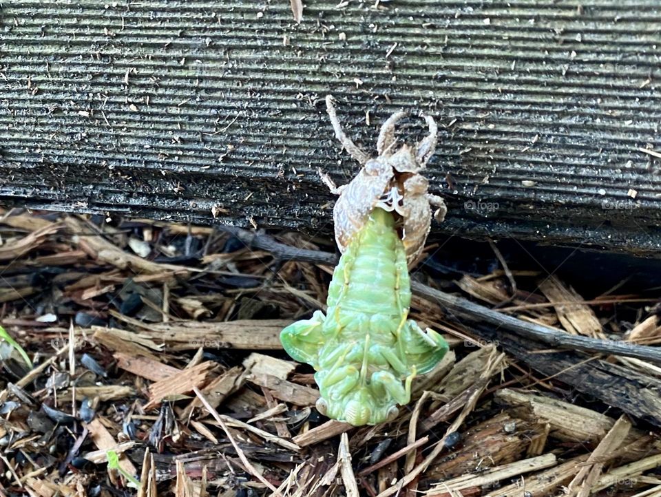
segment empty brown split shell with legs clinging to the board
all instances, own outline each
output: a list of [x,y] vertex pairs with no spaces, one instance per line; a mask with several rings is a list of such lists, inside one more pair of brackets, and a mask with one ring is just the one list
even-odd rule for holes
[[330,191],[339,195],[333,209],[333,220],[340,253],[344,253],[349,240],[367,222],[370,212],[375,207],[381,207],[401,216],[401,240],[406,249],[406,260],[408,264],[412,263],[424,248],[431,229],[432,207],[437,208],[434,218],[439,222],[443,221],[447,212],[443,199],[428,193],[429,182],[421,174],[436,150],[438,129],[434,118],[423,116],[429,134],[415,147],[404,144],[396,148],[395,125],[406,113],[392,114],[379,132],[379,155],[370,158],[344,134],[330,95],[326,96],[326,108],[337,140],[362,165],[357,176],[341,187],[336,187],[328,175],[319,171]]

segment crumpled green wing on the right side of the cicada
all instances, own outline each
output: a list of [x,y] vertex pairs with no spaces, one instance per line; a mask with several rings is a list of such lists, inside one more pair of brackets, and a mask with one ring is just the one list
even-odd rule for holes
[[412,319],[403,326],[401,340],[407,363],[415,366],[420,374],[434,369],[449,350],[448,342],[441,335],[429,328],[423,331]]

